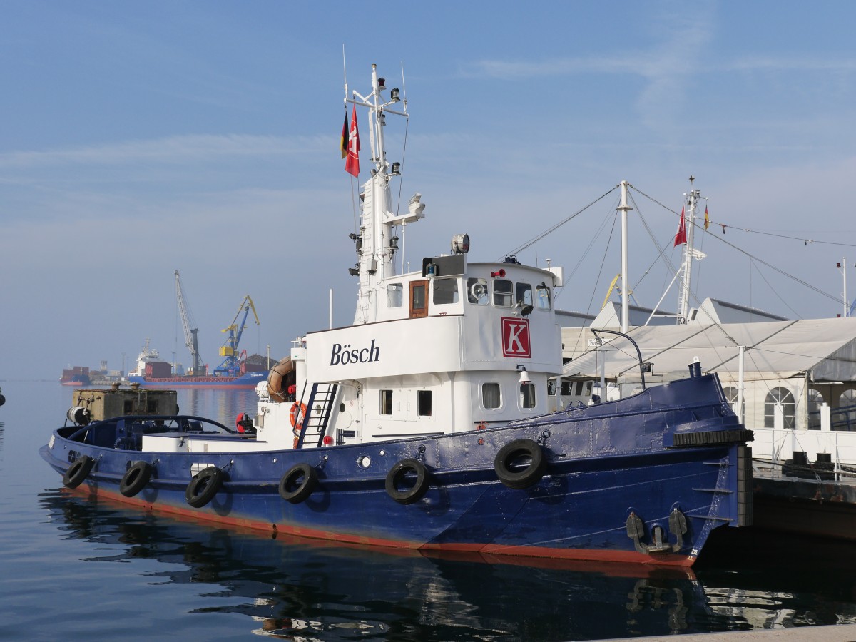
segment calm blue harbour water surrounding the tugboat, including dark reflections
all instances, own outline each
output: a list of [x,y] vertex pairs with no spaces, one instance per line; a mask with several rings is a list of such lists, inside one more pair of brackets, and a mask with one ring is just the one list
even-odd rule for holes
[[[856,544],[716,532],[693,573],[538,568],[270,539],[61,490],[71,389],[2,382],[0,638],[573,640],[856,623]],[[253,391],[179,392],[231,423]]]

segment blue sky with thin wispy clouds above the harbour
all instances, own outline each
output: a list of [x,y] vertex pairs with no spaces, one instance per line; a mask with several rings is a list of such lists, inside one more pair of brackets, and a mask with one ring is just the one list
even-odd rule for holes
[[127,371],[147,338],[187,365],[175,270],[211,368],[247,294],[249,354],[328,327],[331,290],[350,323],[342,98],[373,63],[407,98],[386,136],[402,210],[426,204],[414,269],[466,232],[471,261],[562,265],[557,306],[597,313],[628,181],[633,299],[674,312],[693,175],[691,303],[834,317],[856,296],[853,24],[856,3],[789,0],[0,0],[0,380]]

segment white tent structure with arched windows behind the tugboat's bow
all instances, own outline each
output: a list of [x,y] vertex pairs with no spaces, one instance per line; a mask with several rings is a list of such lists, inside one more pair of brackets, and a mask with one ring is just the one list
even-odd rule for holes
[[[833,461],[856,463],[856,318],[699,321],[628,330],[641,360],[652,364],[646,385],[688,377],[698,360],[702,372],[719,375],[728,402],[756,431],[756,457],[778,461],[800,450],[810,459],[831,453]],[[603,380],[621,396],[641,389],[633,343],[591,327],[562,329],[562,381]]]

